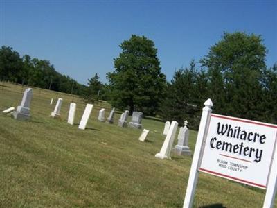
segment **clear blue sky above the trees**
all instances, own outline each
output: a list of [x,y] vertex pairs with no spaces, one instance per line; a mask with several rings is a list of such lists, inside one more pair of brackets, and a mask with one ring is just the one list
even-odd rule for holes
[[3,1],[0,46],[49,60],[78,82],[114,70],[119,44],[132,34],[154,41],[161,71],[208,53],[223,31],[262,35],[267,66],[277,61],[277,1]]

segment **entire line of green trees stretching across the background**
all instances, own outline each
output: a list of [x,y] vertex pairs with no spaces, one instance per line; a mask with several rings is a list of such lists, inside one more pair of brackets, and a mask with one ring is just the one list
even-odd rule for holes
[[107,73],[107,84],[96,73],[87,86],[80,85],[57,73],[50,62],[28,55],[20,58],[5,46],[0,50],[0,78],[68,93],[75,83],[74,93],[87,102],[104,99],[120,110],[141,111],[180,125],[188,120],[195,129],[207,98],[212,99],[217,114],[277,121],[277,65],[266,66],[267,49],[260,35],[224,33],[204,58],[175,70],[170,82],[161,73],[152,40],[132,35],[120,49],[114,71]]

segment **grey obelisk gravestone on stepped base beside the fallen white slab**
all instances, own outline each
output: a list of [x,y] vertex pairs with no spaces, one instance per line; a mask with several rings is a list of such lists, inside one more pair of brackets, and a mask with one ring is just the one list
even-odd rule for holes
[[30,101],[33,98],[33,89],[28,88],[24,91],[21,104],[17,106],[17,111],[13,112],[13,117],[17,120],[25,121],[30,119]]

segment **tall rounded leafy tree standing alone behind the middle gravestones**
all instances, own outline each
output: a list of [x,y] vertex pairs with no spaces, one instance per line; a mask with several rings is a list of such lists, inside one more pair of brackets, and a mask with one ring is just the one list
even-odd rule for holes
[[161,73],[154,42],[132,35],[120,44],[122,52],[114,59],[115,71],[107,73],[111,104],[154,115],[159,107],[166,76]]

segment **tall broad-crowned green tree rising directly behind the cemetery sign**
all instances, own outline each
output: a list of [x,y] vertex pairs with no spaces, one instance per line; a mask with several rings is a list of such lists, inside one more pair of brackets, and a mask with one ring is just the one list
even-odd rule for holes
[[267,51],[262,37],[224,33],[200,63],[208,70],[214,112],[259,119],[262,111],[260,78]]

